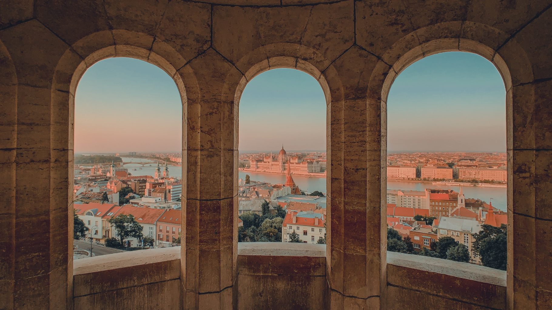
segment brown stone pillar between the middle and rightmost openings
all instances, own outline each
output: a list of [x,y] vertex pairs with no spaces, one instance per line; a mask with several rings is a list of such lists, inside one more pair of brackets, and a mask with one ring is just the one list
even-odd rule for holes
[[353,46],[323,73],[331,90],[326,305],[332,310],[380,309],[383,300],[384,135],[380,100],[367,96],[377,63]]

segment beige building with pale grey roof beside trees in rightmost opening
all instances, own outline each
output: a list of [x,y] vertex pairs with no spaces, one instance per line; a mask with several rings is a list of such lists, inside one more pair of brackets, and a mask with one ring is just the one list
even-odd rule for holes
[[441,237],[453,237],[458,243],[468,247],[472,263],[479,263],[479,257],[474,257],[471,252],[471,244],[474,242],[474,234],[481,231],[481,224],[474,219],[464,217],[439,216],[437,226],[437,240]]

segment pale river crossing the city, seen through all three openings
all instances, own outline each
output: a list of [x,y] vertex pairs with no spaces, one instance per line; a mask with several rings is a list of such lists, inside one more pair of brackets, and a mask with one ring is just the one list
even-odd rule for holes
[[[147,159],[134,158],[134,157],[121,157],[123,161],[135,161],[135,162],[145,162],[151,161]],[[155,175],[155,169],[157,164],[152,162],[151,165],[142,167],[139,164],[128,164],[125,165],[126,168],[129,168],[129,172],[133,176]],[[136,171],[132,170],[136,168]],[[140,170],[140,168],[142,168]],[[162,168],[163,169],[163,168]],[[182,167],[181,166],[171,166],[169,165],[169,174],[174,177],[182,178]],[[258,173],[258,172],[245,172],[238,171],[238,177],[245,179],[245,175],[249,175],[252,181],[263,181],[269,182],[272,184],[285,183],[285,175],[275,175],[270,173]],[[320,191],[326,193],[326,178],[319,177],[304,177],[304,176],[293,176],[295,184],[299,186],[302,191],[305,192],[314,192]],[[444,186],[436,185],[431,183],[421,183],[421,182],[395,182],[391,181],[387,183],[388,189],[401,189],[403,191],[423,191],[424,188],[443,188],[443,189],[453,189],[454,191],[459,192],[459,186]],[[506,211],[506,188],[493,188],[493,187],[477,187],[477,186],[465,186],[463,187],[463,192],[466,198],[479,198],[485,202],[489,202],[489,199],[492,198],[492,205],[495,208]]]

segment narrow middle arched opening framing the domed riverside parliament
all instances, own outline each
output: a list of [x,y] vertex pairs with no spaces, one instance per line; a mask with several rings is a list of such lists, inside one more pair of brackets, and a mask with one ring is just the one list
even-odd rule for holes
[[326,243],[330,166],[319,81],[271,69],[250,79],[237,100],[238,242]]

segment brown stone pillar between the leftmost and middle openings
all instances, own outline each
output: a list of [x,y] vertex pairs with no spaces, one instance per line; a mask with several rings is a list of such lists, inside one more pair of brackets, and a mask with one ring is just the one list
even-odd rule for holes
[[232,309],[238,154],[233,92],[242,75],[212,48],[177,74],[188,98],[182,308]]

